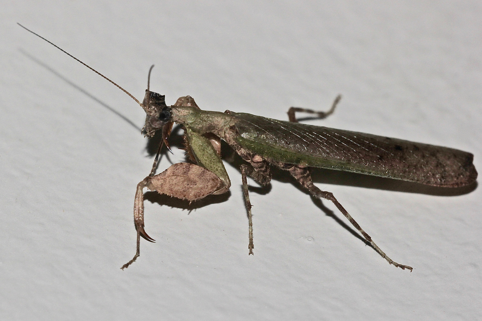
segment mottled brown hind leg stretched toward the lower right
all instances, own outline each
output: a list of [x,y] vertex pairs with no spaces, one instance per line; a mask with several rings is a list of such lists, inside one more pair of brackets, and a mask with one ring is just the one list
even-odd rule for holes
[[314,196],[314,197],[321,197],[327,200],[330,200],[335,204],[335,206],[338,208],[338,210],[348,219],[348,221],[353,225],[354,228],[356,228],[360,233],[362,233],[363,237],[367,240],[368,243],[372,245],[372,247],[375,249],[378,254],[380,254],[383,258],[385,258],[389,264],[392,264],[398,268],[401,268],[402,270],[408,269],[410,271],[413,270],[412,267],[409,267],[407,265],[402,265],[399,264],[395,261],[393,261],[391,258],[389,258],[385,252],[383,252],[378,245],[373,242],[372,238],[370,235],[368,235],[363,229],[360,227],[360,225],[351,217],[350,214],[348,214],[348,211],[336,200],[335,196],[333,196],[333,193],[331,192],[325,192],[321,191],[318,187],[316,187],[313,184],[313,181],[311,180],[311,175],[309,173],[308,167],[301,167],[298,165],[292,165],[292,164],[284,164],[280,163],[277,164],[278,167],[281,169],[288,170],[290,174],[305,188],[308,190],[308,192]]

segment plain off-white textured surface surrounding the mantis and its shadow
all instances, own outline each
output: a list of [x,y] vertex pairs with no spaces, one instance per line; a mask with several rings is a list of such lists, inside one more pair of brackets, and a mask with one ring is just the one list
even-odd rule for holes
[[333,116],[309,123],[469,151],[482,168],[480,1],[173,2],[2,4],[0,319],[481,320],[475,187],[441,196],[452,192],[319,173],[410,273],[286,177],[251,193],[248,256],[241,175],[226,163],[225,201],[190,213],[146,201],[157,243],[142,240],[119,269],[134,255],[135,186],[153,157],[108,108],[137,127],[144,112],[16,22],[138,99],[151,64],[151,90],[206,110],[287,119],[292,105],[326,110],[342,93]]

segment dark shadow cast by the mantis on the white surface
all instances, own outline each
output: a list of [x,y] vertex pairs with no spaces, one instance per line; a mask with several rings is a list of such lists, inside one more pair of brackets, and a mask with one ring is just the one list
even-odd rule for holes
[[[120,112],[109,106],[107,103],[104,103],[99,98],[95,97],[87,90],[84,90],[79,85],[76,85],[74,82],[70,81],[67,77],[64,77],[59,72],[57,72],[54,68],[49,66],[48,64],[43,63],[33,55],[29,54],[28,52],[19,49],[19,51],[26,56],[28,59],[33,61],[36,64],[39,64],[49,72],[53,73],[56,77],[59,77],[61,80],[66,82],[68,85],[73,87],[76,90],[79,90],[81,93],[86,95],[87,97],[93,99],[96,103],[99,103],[101,106],[115,114],[116,116],[120,117],[130,126],[135,128],[137,131],[140,131],[141,128],[134,124],[133,121],[128,119],[126,116],[122,115]],[[311,120],[316,119],[316,117],[305,117],[299,119],[301,120]],[[173,135],[171,135],[169,141],[172,146],[182,148],[183,147],[183,138],[182,135],[179,133],[180,128],[177,126],[173,130]],[[151,139],[147,140],[146,143],[146,152],[147,157],[153,157],[161,142],[161,134],[156,134]],[[224,141],[222,142],[223,151],[222,158],[227,161],[232,167],[239,170],[241,164],[245,164],[245,162],[241,159],[241,157],[236,154],[227,143]],[[169,158],[169,154],[167,149],[164,147],[162,154]],[[273,179],[285,183],[293,183],[293,185],[298,188],[301,192],[306,193],[301,188],[299,188],[298,184],[296,184],[295,180],[289,175],[286,171],[273,168],[272,169]],[[405,193],[420,193],[420,194],[428,194],[428,195],[436,195],[436,196],[457,196],[463,195],[472,192],[478,186],[478,183],[475,182],[469,186],[461,187],[461,188],[443,188],[443,187],[432,187],[412,182],[406,182],[402,180],[394,180],[389,178],[382,178],[376,176],[369,176],[363,175],[358,173],[349,173],[337,170],[330,170],[330,169],[323,169],[323,168],[312,168],[311,177],[314,182],[322,183],[322,184],[335,184],[335,185],[346,185],[346,186],[354,186],[354,187],[363,187],[363,188],[371,188],[371,189],[379,189],[379,190],[387,190],[387,191],[396,191],[396,192],[405,192]],[[257,187],[250,185],[249,190],[254,193],[258,194],[267,194],[271,191],[271,184],[265,187]],[[189,205],[189,202],[182,201],[180,199],[176,199],[173,197],[169,197],[164,194],[159,194],[155,192],[146,192],[145,199],[150,201],[151,203],[158,203],[160,205],[168,205],[171,207],[177,207],[182,209],[196,209],[200,207],[204,207],[206,205],[215,204],[225,202],[229,199],[231,193],[224,193],[221,195],[209,195],[201,200],[193,202]],[[368,244],[366,240],[364,240],[356,231],[354,231],[351,227],[345,224],[340,218],[338,218],[333,211],[325,207],[321,200],[318,198],[312,198],[313,203],[317,205],[327,216],[335,219],[335,221],[340,224],[343,228],[353,234],[355,237],[362,240],[365,244]]]

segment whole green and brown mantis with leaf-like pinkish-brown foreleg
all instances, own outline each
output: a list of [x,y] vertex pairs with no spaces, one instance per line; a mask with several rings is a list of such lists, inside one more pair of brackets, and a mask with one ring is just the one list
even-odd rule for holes
[[[22,25],[19,24],[19,26]],[[54,45],[38,34],[25,29]],[[466,186],[477,179],[477,171],[472,164],[473,155],[467,152],[297,123],[296,112],[315,114],[318,118],[332,114],[340,101],[340,95],[336,97],[331,109],[327,112],[291,107],[288,111],[290,122],[251,114],[232,113],[228,110],[225,113],[201,111],[190,96],[180,97],[173,106],[168,107],[163,95],[149,90],[149,80],[143,103],[140,103],[112,80],[54,46],[133,98],[146,112],[146,123],[143,129],[148,137],[152,137],[157,130],[162,129],[162,141],[169,148],[167,136],[173,122],[183,124],[186,128],[187,150],[192,154],[192,159],[202,166],[178,163],[154,176],[162,147],[162,144],[160,145],[151,173],[137,184],[134,200],[137,250],[133,259],[124,264],[121,269],[127,268],[139,257],[141,235],[150,242],[154,241],[144,231],[144,187],[189,201],[228,191],[231,183],[219,158],[220,138],[250,164],[250,166],[246,164],[241,166],[243,194],[249,218],[249,254],[253,254],[254,244],[246,176],[252,177],[261,185],[269,184],[271,180],[269,164],[289,171],[312,196],[332,201],[388,263],[409,270],[412,268],[391,260],[338,203],[332,193],[321,191],[313,184],[307,167],[331,168],[439,187]],[[153,65],[149,69],[149,76],[152,67]]]

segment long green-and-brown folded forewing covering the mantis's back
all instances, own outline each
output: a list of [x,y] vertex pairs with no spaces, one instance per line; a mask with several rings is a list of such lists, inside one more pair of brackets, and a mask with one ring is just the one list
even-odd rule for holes
[[231,116],[238,143],[267,160],[432,186],[459,187],[477,178],[473,155],[456,149],[251,114]]

